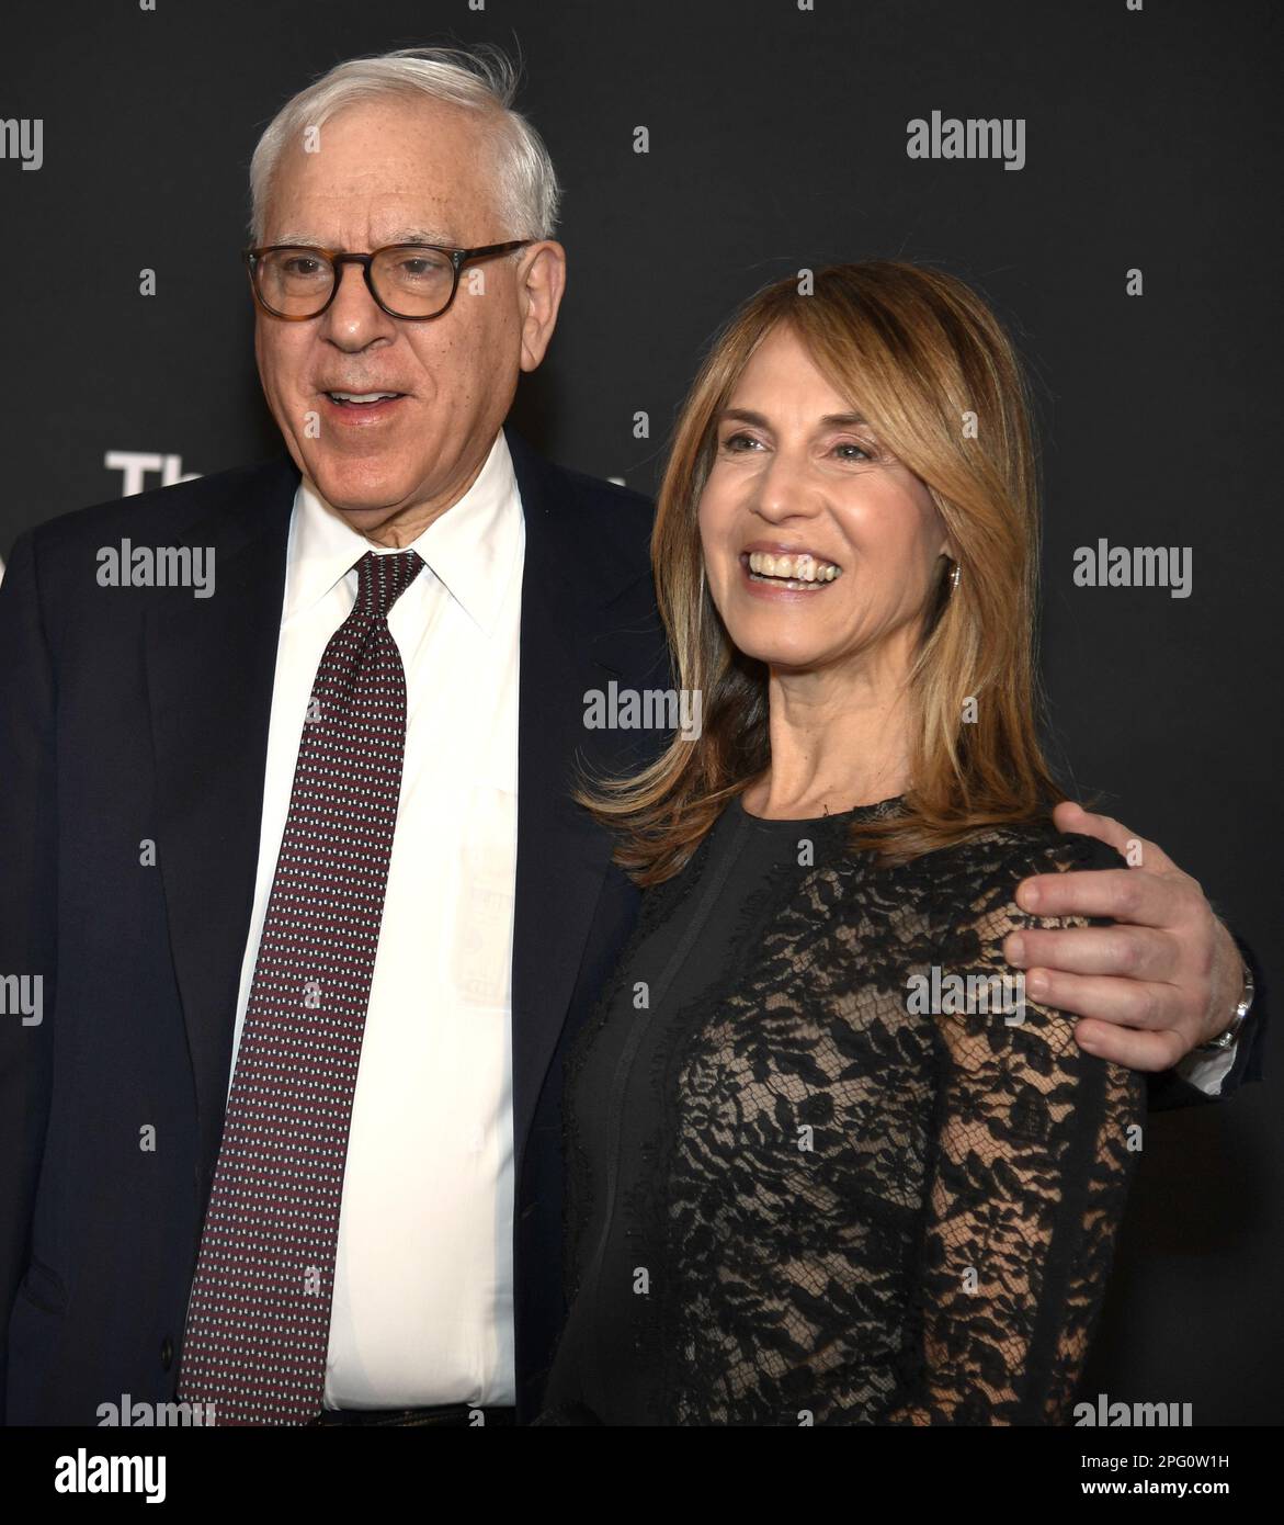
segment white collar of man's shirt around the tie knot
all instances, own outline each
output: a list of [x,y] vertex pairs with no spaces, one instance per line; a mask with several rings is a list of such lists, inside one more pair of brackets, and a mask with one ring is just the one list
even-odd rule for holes
[[[522,497],[500,430],[464,497],[401,549],[416,551],[468,618],[490,634],[503,605],[520,523]],[[368,551],[393,554],[352,529],[302,479],[290,522],[284,618],[291,619],[319,604]]]

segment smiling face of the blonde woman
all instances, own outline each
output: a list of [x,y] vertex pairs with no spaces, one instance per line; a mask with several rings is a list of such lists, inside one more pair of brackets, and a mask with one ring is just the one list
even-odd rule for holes
[[793,328],[758,346],[715,438],[700,540],[735,645],[778,671],[880,648],[907,665],[945,526]]

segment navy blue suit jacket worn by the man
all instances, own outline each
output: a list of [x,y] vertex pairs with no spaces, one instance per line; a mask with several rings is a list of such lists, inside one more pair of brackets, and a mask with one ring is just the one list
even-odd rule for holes
[[[662,740],[586,729],[584,695],[612,679],[663,688],[668,669],[651,503],[506,438],[526,520],[512,953],[525,1420],[564,1312],[561,1049],[637,901],[607,833],[570,804],[570,769],[576,755],[630,769]],[[282,454],[67,514],[20,537],[0,587],[0,976],[43,979],[38,1023],[0,1017],[9,1423],[93,1424],[122,1392],[174,1400],[232,1063],[297,482]],[[213,596],[99,587],[96,554],[124,538],[213,547]],[[140,865],[148,839],[154,868]]]

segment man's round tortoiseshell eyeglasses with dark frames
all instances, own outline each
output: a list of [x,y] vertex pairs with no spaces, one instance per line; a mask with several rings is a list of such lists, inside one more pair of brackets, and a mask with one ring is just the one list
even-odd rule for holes
[[340,265],[361,265],[371,296],[389,317],[419,322],[441,317],[459,290],[461,270],[477,259],[525,249],[529,238],[479,249],[442,249],[439,244],[389,244],[371,255],[345,255],[311,244],[268,244],[247,249],[242,259],[264,311],[300,323],[320,314],[339,290]]

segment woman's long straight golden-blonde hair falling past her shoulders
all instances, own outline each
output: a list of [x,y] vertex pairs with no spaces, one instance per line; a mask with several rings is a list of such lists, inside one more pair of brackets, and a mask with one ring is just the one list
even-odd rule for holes
[[717,337],[677,419],[651,564],[679,688],[701,694],[701,734],[674,737],[631,778],[576,793],[618,834],[615,859],[639,884],[679,872],[770,762],[767,669],[737,651],[709,598],[697,514],[718,416],[779,323],[791,325],[880,447],[927,486],[959,567],[953,587],[941,558],[924,604],[907,680],[903,808],[855,822],[851,849],[906,862],[1043,817],[1066,798],[1038,740],[1038,485],[1016,351],[953,276],[900,261],[831,265],[807,293],[788,278],[750,297]]

